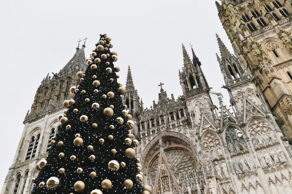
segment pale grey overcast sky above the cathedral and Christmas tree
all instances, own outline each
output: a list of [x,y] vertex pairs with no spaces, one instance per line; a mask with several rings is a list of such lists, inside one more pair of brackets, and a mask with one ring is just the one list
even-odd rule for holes
[[1,1],[0,3],[1,149],[0,188],[17,149],[27,110],[47,73],[59,72],[72,58],[77,41],[88,37],[89,56],[100,33],[112,37],[122,83],[131,66],[144,108],[158,100],[160,82],[169,97],[182,95],[178,69],[183,43],[192,43],[214,91],[227,91],[215,53],[215,33],[232,51],[215,1]]

